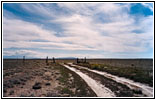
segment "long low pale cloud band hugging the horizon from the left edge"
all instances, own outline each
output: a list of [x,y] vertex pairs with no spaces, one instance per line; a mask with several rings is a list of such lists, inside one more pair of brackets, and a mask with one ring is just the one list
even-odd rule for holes
[[16,58],[20,58],[25,56],[26,58],[46,58],[47,56],[49,58],[56,57],[79,57],[79,58],[102,58],[103,56],[101,54],[94,54],[90,55],[89,53],[87,54],[80,54],[80,53],[47,53],[47,52],[41,52],[41,51],[34,51],[34,50],[5,50],[3,52],[3,56],[16,56]]

